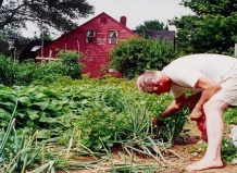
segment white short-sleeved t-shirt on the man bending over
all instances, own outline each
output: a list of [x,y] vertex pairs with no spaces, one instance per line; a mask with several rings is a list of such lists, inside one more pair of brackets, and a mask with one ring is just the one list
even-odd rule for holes
[[216,82],[225,82],[233,75],[237,59],[222,54],[191,54],[178,58],[165,66],[164,72],[172,81],[171,92],[174,98],[195,88],[201,76]]

